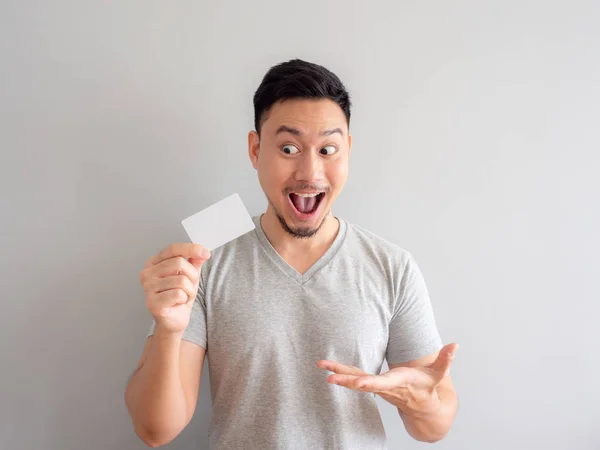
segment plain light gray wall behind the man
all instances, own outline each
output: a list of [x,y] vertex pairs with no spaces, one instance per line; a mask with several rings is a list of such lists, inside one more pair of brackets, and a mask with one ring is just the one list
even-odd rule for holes
[[[595,1],[3,1],[0,447],[141,449],[138,274],[233,192],[252,94],[301,57],[353,95],[334,212],[413,252],[460,411],[440,449],[600,448]],[[416,449],[380,401],[391,448]],[[205,448],[202,380],[169,448]]]

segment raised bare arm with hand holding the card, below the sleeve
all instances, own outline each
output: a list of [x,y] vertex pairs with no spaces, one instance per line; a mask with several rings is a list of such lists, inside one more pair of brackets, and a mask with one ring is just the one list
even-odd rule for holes
[[205,347],[184,340],[210,252],[192,243],[172,244],[140,273],[154,331],[127,384],[125,403],[136,434],[149,446],[171,442],[194,415]]

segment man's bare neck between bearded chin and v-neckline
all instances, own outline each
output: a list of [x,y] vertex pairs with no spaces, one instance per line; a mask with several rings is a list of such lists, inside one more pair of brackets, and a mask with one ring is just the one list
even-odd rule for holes
[[310,238],[297,238],[283,229],[271,205],[261,216],[261,226],[267,239],[280,255],[321,253],[335,240],[340,228],[339,221],[331,214],[325,217],[319,231]]

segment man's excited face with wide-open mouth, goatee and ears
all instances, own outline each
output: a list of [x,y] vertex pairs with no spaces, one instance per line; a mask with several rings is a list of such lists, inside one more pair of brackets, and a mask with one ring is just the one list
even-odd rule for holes
[[313,236],[329,215],[348,176],[352,137],[333,101],[277,103],[248,135],[252,165],[282,227],[298,238]]

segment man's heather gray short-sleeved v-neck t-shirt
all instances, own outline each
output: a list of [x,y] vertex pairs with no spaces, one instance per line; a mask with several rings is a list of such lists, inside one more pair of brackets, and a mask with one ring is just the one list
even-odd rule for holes
[[[304,274],[256,229],[215,249],[183,339],[207,349],[211,449],[386,449],[375,395],[327,383],[320,359],[371,374],[442,347],[411,254],[340,220]],[[152,331],[150,332],[152,333]],[[398,425],[401,419],[398,417]]]

